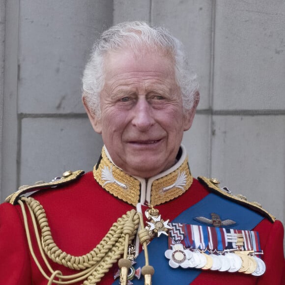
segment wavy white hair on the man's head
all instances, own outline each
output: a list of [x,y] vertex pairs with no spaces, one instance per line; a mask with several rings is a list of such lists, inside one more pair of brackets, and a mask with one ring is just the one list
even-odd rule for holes
[[123,47],[164,50],[175,63],[176,83],[180,86],[184,110],[199,102],[197,76],[188,65],[183,44],[161,27],[146,22],[124,22],[104,31],[95,41],[83,74],[83,98],[90,111],[100,116],[100,92],[104,87],[104,56]]

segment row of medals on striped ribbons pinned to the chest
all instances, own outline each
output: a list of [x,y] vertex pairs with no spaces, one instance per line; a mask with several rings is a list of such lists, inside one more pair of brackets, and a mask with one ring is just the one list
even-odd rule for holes
[[165,256],[172,268],[199,268],[260,276],[265,272],[259,258],[258,232],[170,223],[169,249]]

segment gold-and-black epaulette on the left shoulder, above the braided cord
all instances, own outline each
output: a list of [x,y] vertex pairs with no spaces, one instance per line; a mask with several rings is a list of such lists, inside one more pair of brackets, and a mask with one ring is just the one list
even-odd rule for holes
[[78,179],[82,174],[84,174],[83,170],[78,171],[65,171],[62,174],[62,177],[57,177],[51,182],[44,182],[39,181],[36,182],[34,185],[23,185],[20,186],[18,191],[14,192],[13,194],[9,195],[5,202],[8,202],[12,205],[15,205],[17,203],[17,200],[24,195],[25,193],[32,192],[32,191],[38,191],[41,189],[51,188],[51,187],[57,187],[57,186],[63,186],[67,183],[70,183],[71,181],[75,181]]

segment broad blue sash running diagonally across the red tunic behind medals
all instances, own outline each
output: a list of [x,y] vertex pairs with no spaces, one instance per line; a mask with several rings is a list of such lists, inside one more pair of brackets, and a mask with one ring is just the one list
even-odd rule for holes
[[[171,222],[201,225],[194,218],[202,216],[211,219],[211,213],[218,214],[221,220],[230,219],[235,221],[236,224],[231,225],[230,228],[236,229],[251,230],[263,220],[263,216],[255,211],[211,193],[197,204],[186,209]],[[167,217],[162,218],[167,219]],[[164,234],[159,238],[154,238],[147,246],[147,249],[149,263],[156,270],[152,277],[153,284],[189,285],[202,272],[199,269],[171,268],[168,264],[169,259],[164,256],[165,251],[168,249],[168,237]],[[144,253],[141,252],[135,261],[137,262],[134,265],[135,268],[143,267],[145,262]],[[132,280],[134,285],[143,285],[143,282],[143,277],[140,280]],[[113,284],[118,285],[119,280],[116,280]]]

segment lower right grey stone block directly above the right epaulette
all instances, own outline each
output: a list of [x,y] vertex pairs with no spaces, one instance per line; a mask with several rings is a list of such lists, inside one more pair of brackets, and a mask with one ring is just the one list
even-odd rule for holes
[[285,116],[214,116],[212,176],[285,221]]

